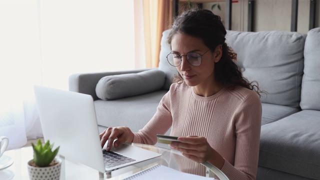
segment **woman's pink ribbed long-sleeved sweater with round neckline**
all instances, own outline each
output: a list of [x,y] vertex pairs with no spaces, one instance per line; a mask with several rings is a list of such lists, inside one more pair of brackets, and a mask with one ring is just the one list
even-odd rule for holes
[[[184,82],[173,83],[151,120],[134,133],[133,142],[155,144],[156,134],[163,134],[172,126],[173,136],[206,137],[225,159],[221,171],[229,179],[255,179],[261,111],[257,93],[244,87],[222,88],[203,97]],[[190,173],[204,175],[204,168],[198,165]]]

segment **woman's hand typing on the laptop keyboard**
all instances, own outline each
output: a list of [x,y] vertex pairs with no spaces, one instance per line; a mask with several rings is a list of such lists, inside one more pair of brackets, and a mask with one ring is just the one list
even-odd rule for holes
[[111,149],[114,139],[116,140],[114,141],[113,146],[118,147],[121,143],[132,142],[133,137],[133,132],[126,126],[108,127],[100,133],[101,146],[103,147],[107,141],[107,151]]

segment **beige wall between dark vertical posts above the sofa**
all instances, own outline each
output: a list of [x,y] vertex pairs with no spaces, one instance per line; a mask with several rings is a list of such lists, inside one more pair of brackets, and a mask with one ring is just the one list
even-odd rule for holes
[[[281,30],[290,31],[291,27],[291,1],[292,0],[255,0],[254,31]],[[204,3],[203,8],[211,9],[211,5],[219,3],[222,10],[214,9],[213,12],[224,20],[225,2]],[[307,33],[309,30],[309,0],[298,0],[297,31]],[[320,1],[316,3],[315,26],[320,27]],[[247,31],[248,0],[235,0],[232,3],[231,29]],[[276,20],[275,20],[276,19]]]

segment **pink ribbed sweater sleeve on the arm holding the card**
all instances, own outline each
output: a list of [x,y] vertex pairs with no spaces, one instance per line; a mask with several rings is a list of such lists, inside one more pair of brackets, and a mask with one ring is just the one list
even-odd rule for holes
[[234,113],[234,162],[221,169],[229,179],[255,179],[257,171],[262,107],[257,94],[245,97]]

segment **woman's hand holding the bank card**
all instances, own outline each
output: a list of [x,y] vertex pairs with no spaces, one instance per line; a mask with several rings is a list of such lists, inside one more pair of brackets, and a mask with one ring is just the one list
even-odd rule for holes
[[171,142],[171,146],[180,151],[185,157],[198,163],[207,161],[221,169],[224,158],[215,151],[205,137],[187,136],[179,137],[179,142]]

